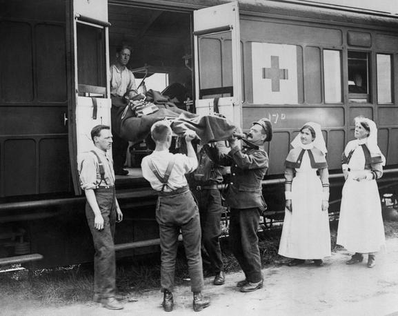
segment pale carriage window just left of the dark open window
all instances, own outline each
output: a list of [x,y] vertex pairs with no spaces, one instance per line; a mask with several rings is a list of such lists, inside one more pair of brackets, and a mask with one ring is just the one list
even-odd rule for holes
[[325,103],[341,102],[341,54],[324,50]]

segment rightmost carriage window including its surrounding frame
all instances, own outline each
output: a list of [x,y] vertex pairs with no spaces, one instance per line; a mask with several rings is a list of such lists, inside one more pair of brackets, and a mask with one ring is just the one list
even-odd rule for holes
[[[379,57],[390,57],[389,58],[389,70],[383,69],[386,67],[381,64]],[[384,74],[381,74],[380,70],[386,70]],[[394,58],[392,54],[388,53],[377,53],[376,54],[376,77],[377,77],[377,104],[392,104],[394,102],[393,91],[394,91]],[[388,76],[389,75],[389,76]],[[387,87],[387,88],[386,88]]]

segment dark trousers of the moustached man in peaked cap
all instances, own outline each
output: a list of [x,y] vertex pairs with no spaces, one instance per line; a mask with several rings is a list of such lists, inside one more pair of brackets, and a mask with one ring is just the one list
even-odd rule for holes
[[237,258],[248,282],[263,279],[257,229],[260,221],[259,208],[231,208],[230,248]]

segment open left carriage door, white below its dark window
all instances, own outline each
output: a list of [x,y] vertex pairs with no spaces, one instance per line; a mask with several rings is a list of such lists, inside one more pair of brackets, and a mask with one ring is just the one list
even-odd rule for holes
[[90,131],[98,124],[110,125],[108,0],[71,0],[69,15],[69,149],[74,191],[79,194],[79,157],[94,146]]

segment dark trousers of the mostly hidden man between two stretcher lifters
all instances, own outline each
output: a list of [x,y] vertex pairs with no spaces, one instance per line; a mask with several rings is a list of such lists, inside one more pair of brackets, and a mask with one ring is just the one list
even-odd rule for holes
[[212,268],[215,273],[223,271],[219,237],[221,235],[221,194],[217,189],[194,191],[198,201],[201,221],[201,256],[203,268]]

